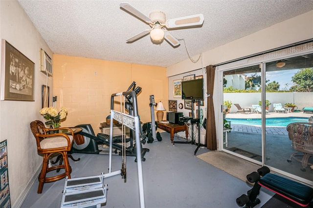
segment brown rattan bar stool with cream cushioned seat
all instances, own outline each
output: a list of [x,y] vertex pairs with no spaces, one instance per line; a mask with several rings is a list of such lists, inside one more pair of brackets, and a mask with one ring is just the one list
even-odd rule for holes
[[[39,185],[37,190],[37,193],[42,193],[44,183],[54,182],[65,177],[70,178],[71,167],[69,166],[67,151],[71,149],[74,133],[70,128],[46,128],[44,123],[38,120],[31,122],[30,128],[36,138],[37,151],[43,154],[44,157],[42,170],[38,177]],[[48,134],[48,131],[60,129],[67,129],[71,135],[64,133]],[[49,158],[58,154],[61,154],[63,157],[63,165],[48,167]],[[46,177],[47,172],[63,168],[65,172],[56,176]]]

